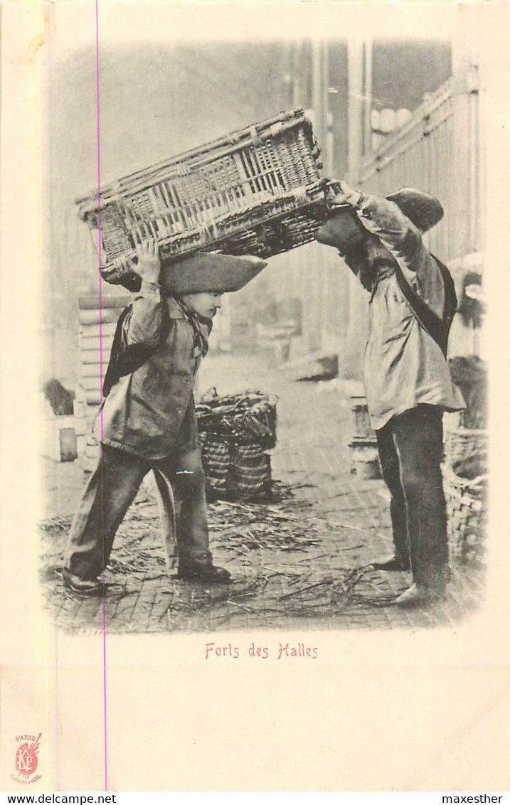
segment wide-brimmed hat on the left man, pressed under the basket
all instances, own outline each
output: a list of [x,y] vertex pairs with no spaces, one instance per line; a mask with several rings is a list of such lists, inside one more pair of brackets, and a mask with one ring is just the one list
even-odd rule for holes
[[238,291],[259,274],[267,262],[249,254],[202,252],[164,264],[160,285],[167,294],[224,294]]

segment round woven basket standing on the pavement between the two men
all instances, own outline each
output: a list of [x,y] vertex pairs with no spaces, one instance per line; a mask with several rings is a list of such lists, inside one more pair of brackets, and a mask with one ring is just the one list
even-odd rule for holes
[[248,391],[220,398],[214,389],[197,405],[197,420],[209,493],[244,500],[267,496],[276,397]]

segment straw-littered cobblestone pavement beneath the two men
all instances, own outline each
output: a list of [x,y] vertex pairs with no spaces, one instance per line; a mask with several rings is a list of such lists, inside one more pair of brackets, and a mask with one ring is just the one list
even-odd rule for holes
[[441,613],[396,607],[408,574],[370,568],[392,548],[389,501],[382,481],[350,473],[352,384],[288,382],[260,357],[213,356],[201,371],[202,392],[257,388],[280,398],[275,500],[209,506],[214,561],[228,568],[232,583],[207,588],[165,572],[157,506],[142,490],[118,531],[104,601],[68,592],[61,555],[82,478],[75,464],[48,463],[41,573],[57,625],[87,634],[103,625],[109,633],[415,629],[453,625],[477,609],[480,568],[453,568]]

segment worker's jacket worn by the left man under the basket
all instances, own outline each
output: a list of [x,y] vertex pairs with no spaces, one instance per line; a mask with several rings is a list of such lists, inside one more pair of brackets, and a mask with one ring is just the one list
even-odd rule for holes
[[102,444],[156,460],[177,438],[196,439],[193,385],[209,329],[202,321],[198,343],[197,320],[143,283],[119,319],[97,421]]

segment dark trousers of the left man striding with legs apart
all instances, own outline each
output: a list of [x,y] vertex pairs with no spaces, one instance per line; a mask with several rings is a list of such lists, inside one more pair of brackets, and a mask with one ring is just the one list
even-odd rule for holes
[[172,487],[179,561],[210,563],[200,448],[184,448],[175,456],[148,461],[102,445],[69,532],[64,566],[70,572],[91,579],[106,568],[118,526],[151,469],[159,470]]

